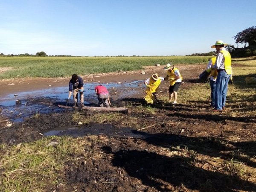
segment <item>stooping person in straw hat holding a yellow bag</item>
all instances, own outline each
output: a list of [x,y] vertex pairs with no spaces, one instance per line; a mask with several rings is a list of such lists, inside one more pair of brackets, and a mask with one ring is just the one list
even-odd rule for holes
[[159,85],[161,84],[161,81],[164,81],[163,77],[160,77],[158,73],[154,73],[151,77],[145,80],[144,84],[147,87],[145,92],[145,101],[149,104],[153,104],[155,99],[157,101],[157,90]]

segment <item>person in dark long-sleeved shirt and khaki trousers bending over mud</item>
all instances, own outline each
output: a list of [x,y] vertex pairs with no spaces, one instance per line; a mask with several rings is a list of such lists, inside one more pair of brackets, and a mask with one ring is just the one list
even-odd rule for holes
[[69,94],[67,100],[70,99],[70,96],[73,92],[73,98],[75,104],[73,105],[73,108],[75,108],[77,105],[77,100],[78,100],[78,93],[80,93],[80,102],[81,102],[81,107],[84,107],[84,82],[83,79],[76,75],[73,74],[72,78],[69,81]]

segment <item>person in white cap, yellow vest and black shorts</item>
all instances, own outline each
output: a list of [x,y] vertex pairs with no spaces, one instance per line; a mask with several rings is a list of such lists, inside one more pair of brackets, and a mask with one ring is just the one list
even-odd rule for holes
[[166,67],[163,67],[163,70],[167,70],[167,76],[165,79],[170,81],[169,87],[169,102],[172,102],[172,97],[174,96],[174,102],[172,104],[177,104],[177,91],[182,82],[182,76],[180,71],[172,65],[172,63],[166,64]]

